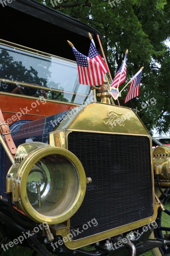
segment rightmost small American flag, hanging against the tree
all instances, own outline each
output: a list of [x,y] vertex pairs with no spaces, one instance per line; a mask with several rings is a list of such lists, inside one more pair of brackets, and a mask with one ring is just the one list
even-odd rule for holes
[[130,85],[128,92],[125,98],[124,103],[128,102],[130,99],[133,99],[140,94],[140,82],[142,79],[142,70],[140,69],[135,76],[130,80]]

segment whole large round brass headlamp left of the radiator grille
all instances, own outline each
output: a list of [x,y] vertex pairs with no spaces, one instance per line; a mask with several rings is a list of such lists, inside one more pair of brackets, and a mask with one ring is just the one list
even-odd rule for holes
[[25,143],[17,148],[6,178],[6,192],[28,217],[59,224],[74,215],[85,196],[86,177],[79,159],[64,148]]

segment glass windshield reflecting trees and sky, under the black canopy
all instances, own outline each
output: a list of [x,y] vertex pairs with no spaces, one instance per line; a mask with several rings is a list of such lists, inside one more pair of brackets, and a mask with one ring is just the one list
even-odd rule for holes
[[80,105],[91,101],[90,87],[79,84],[76,62],[19,47],[0,40],[0,92]]

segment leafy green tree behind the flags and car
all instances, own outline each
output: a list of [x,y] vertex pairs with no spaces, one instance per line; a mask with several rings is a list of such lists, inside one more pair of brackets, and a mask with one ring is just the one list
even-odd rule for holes
[[[144,66],[140,96],[130,100],[126,107],[138,110],[138,115],[152,132],[170,132],[170,2],[167,0],[39,0],[71,17],[87,23],[101,32],[103,48],[112,77],[120,67],[125,50],[127,81]],[[61,3],[59,5],[59,2]],[[93,2],[93,6],[91,3]],[[89,42],[90,44],[90,42]],[[125,85],[125,84],[124,84]],[[120,86],[122,89],[123,85]],[[127,88],[120,99],[124,105]],[[156,105],[150,99],[156,99]],[[147,103],[148,102],[148,103]],[[144,103],[146,103],[144,105]],[[145,106],[145,108],[144,108]]]

